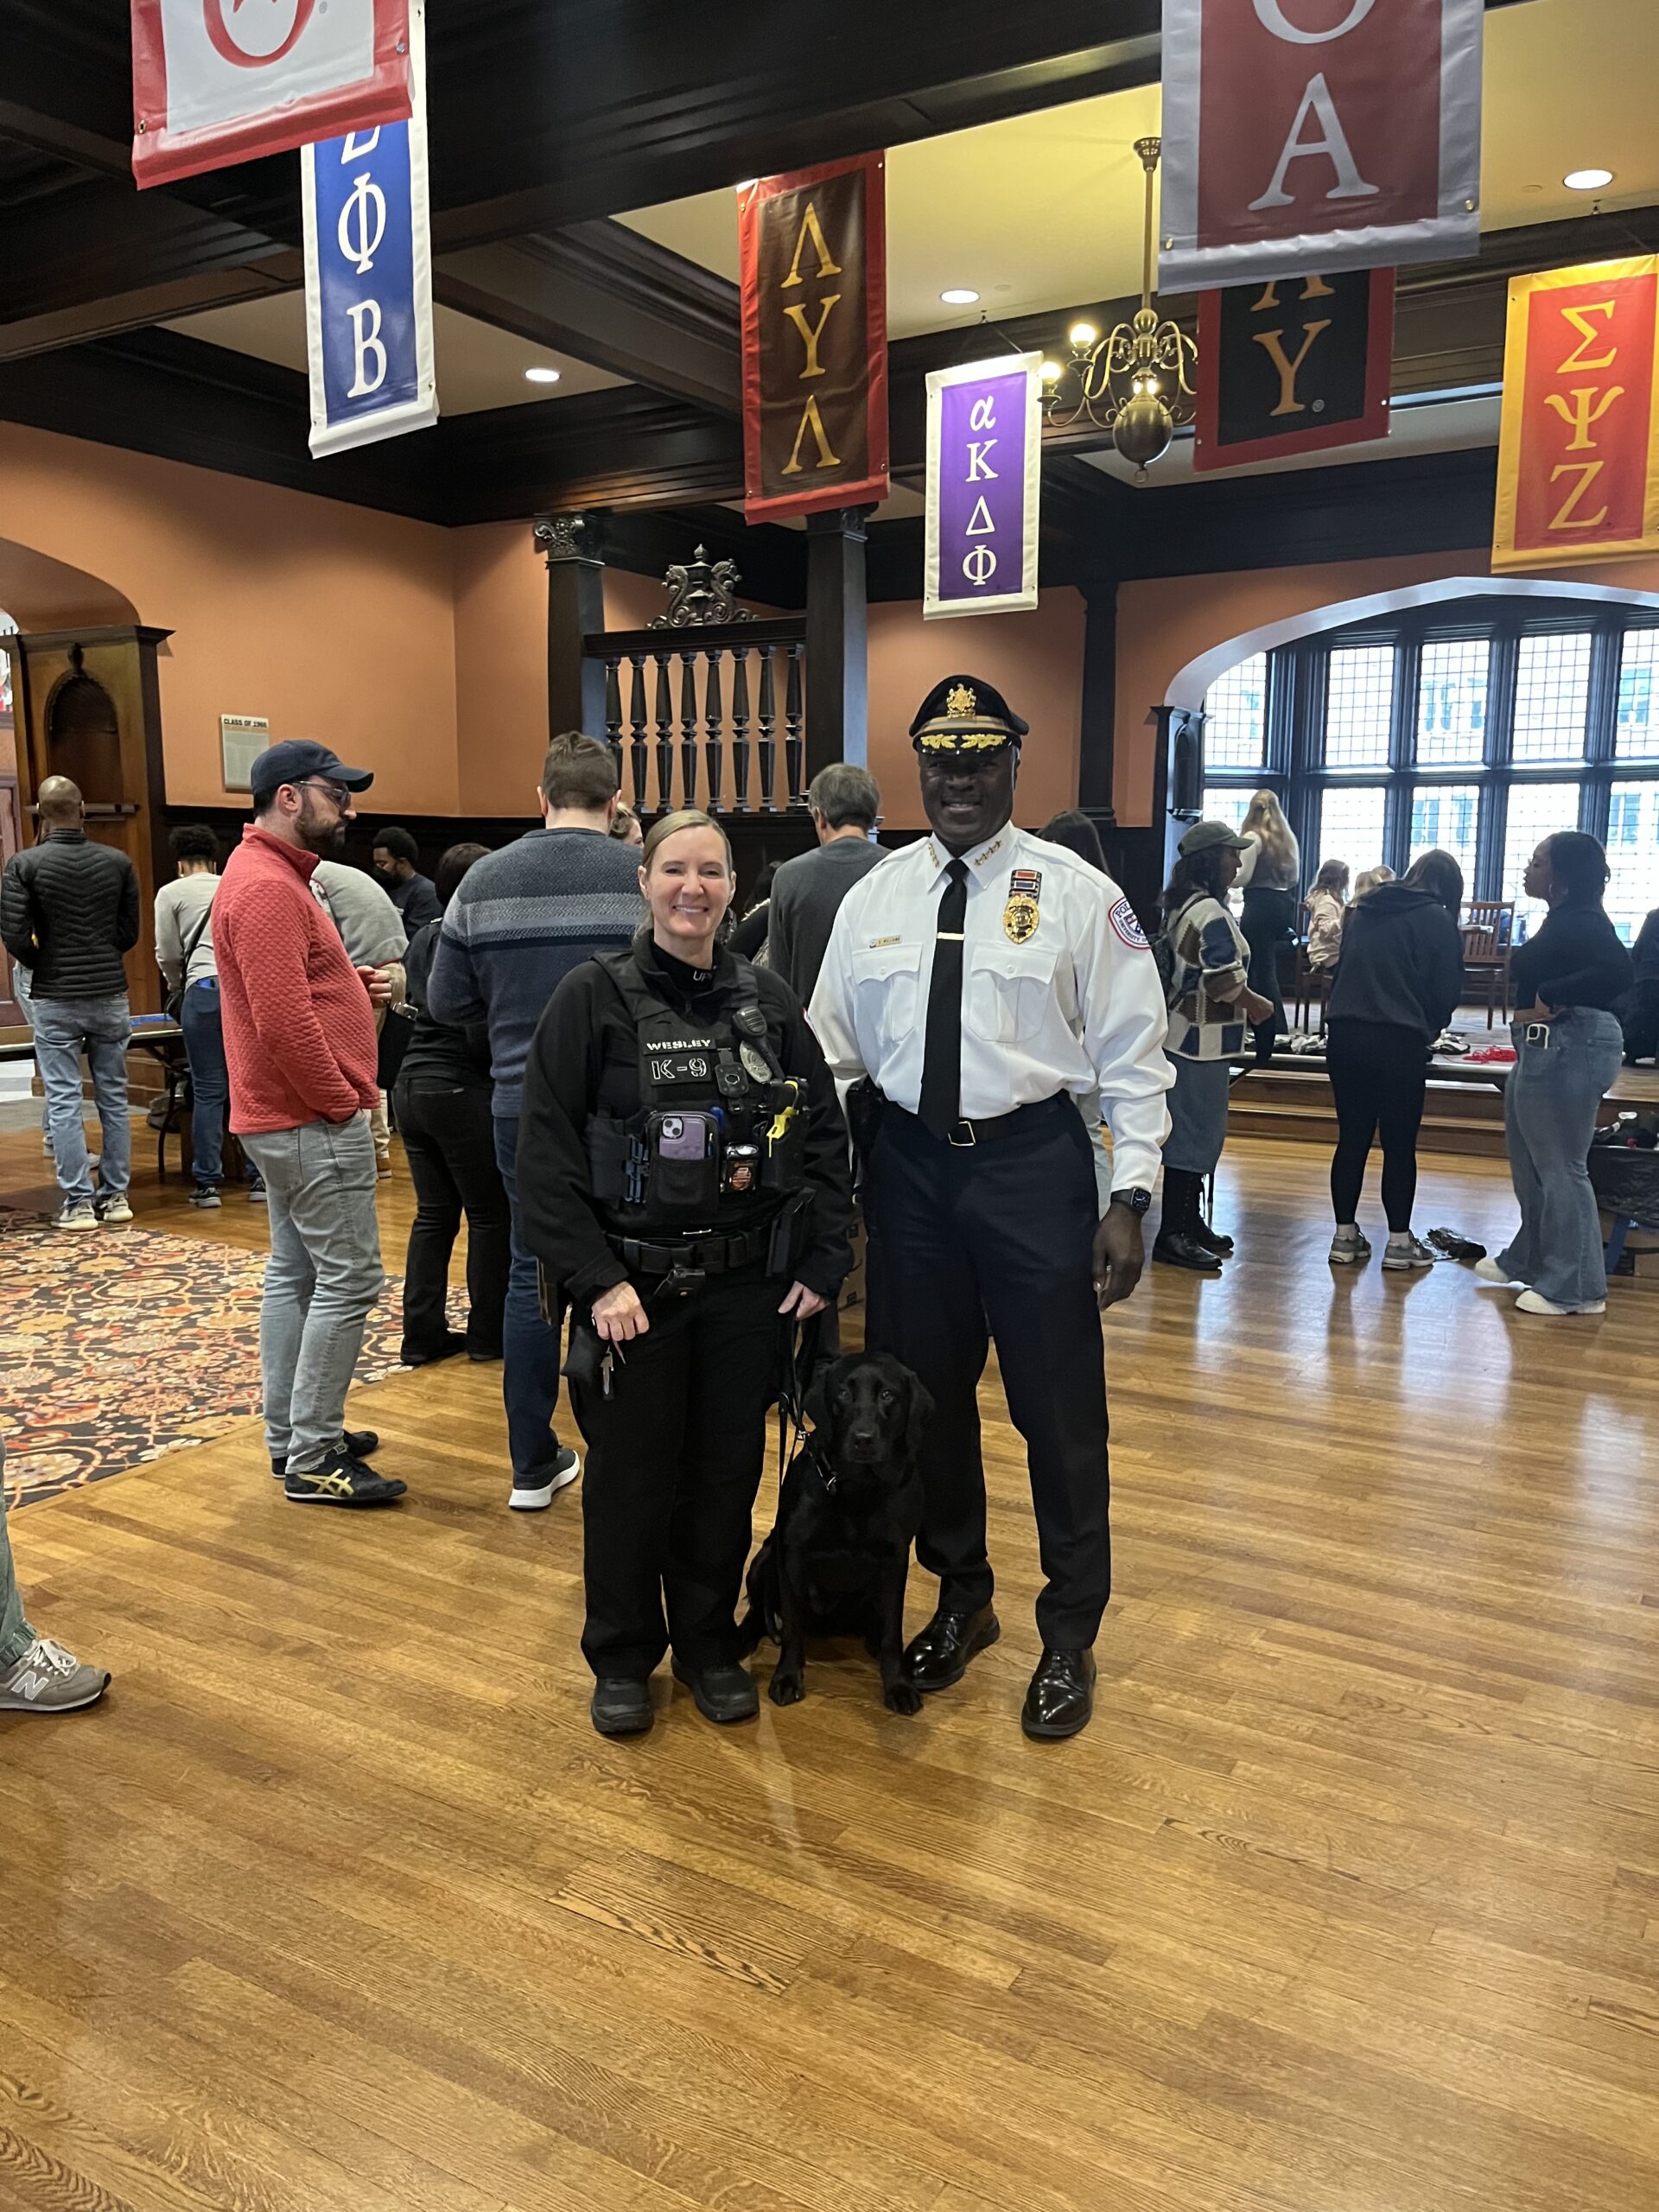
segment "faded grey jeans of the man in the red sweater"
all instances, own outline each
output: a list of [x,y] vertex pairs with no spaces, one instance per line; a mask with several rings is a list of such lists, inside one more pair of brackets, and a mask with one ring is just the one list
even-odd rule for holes
[[259,1374],[272,1460],[312,1473],[341,1442],[369,1307],[385,1287],[367,1113],[243,1137],[265,1177],[270,1261]]

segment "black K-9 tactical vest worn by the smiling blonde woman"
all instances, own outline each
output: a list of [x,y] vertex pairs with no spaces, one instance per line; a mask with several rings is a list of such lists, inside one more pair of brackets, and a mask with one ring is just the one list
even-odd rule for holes
[[599,967],[639,1040],[639,1113],[588,1121],[588,1175],[619,1237],[761,1228],[805,1188],[805,1084],[783,1073],[754,973],[712,1020],[666,1006],[633,951]]

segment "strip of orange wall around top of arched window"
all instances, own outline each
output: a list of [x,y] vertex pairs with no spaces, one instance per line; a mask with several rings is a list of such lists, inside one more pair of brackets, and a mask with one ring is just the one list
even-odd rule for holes
[[[1157,732],[1146,726],[1146,717],[1164,701],[1172,677],[1199,653],[1210,653],[1267,622],[1453,575],[1491,575],[1489,549],[1119,584],[1113,774],[1117,818],[1128,827],[1144,827],[1152,818]],[[1555,575],[1566,584],[1659,591],[1659,560],[1597,562],[1586,568],[1559,568]]]

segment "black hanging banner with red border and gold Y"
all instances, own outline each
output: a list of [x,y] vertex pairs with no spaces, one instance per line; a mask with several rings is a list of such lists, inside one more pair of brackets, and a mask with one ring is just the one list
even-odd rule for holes
[[1387,438],[1391,372],[1394,270],[1206,292],[1192,467]]

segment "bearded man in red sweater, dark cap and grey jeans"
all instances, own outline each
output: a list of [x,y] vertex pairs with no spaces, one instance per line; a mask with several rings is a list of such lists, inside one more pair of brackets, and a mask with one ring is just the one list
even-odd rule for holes
[[265,1442],[294,1504],[385,1504],[407,1486],[367,1464],[372,1429],[345,1427],[363,1325],[385,1281],[369,1110],[374,1002],[392,984],[380,969],[352,967],[312,889],[316,863],[345,845],[352,799],[372,781],[327,745],[261,752],[250,774],[254,818],[212,905],[230,1128],[270,1194],[259,1312]]

